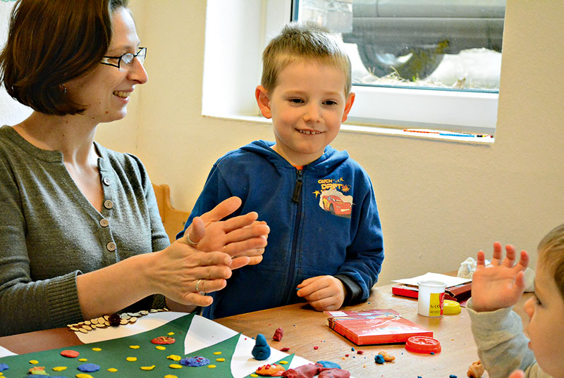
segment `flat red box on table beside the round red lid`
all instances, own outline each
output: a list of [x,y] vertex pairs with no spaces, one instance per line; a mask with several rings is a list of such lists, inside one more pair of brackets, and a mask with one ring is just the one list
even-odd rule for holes
[[384,310],[325,311],[327,326],[357,345],[405,343],[411,336],[433,337],[433,332],[400,314]]

